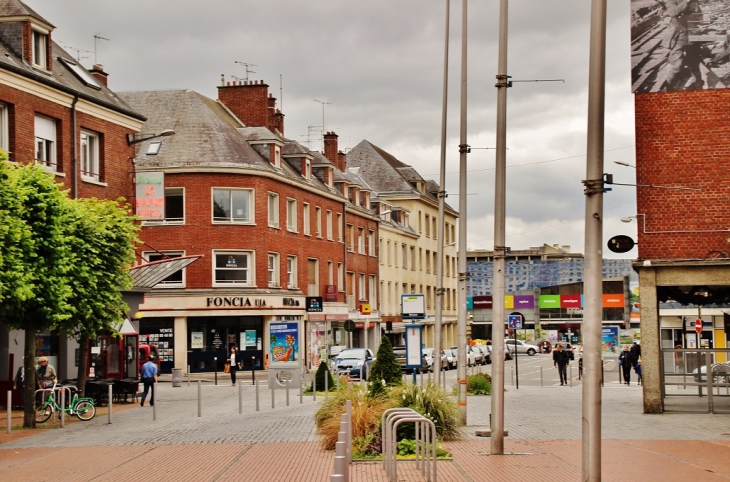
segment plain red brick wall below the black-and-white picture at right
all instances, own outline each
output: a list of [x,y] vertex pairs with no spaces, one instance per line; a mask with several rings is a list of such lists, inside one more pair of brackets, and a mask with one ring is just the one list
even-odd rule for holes
[[730,252],[730,91],[635,95],[640,259],[706,259]]

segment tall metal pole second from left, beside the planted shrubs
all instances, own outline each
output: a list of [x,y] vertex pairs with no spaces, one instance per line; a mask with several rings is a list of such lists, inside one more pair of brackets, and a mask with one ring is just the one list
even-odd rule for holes
[[459,422],[466,425],[466,6],[461,12],[461,115],[459,134],[459,311],[456,319],[458,340],[456,378],[458,381]]

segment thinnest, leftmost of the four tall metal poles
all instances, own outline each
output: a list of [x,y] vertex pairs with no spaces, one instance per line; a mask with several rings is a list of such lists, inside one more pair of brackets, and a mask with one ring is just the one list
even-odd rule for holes
[[444,92],[441,104],[441,172],[439,175],[438,255],[436,259],[436,319],[433,339],[433,373],[436,383],[441,380],[441,327],[444,307],[444,204],[446,203],[446,106],[449,87],[449,11],[451,0],[446,0],[446,34],[444,38]]

